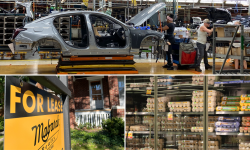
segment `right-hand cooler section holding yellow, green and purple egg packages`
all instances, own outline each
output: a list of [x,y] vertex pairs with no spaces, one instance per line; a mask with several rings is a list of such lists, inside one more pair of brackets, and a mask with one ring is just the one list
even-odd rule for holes
[[[250,94],[250,76],[216,76],[214,85],[208,93],[219,91],[223,96],[216,103],[216,117],[213,135],[220,136],[220,149],[250,149],[250,112],[248,110]],[[209,139],[210,140],[210,139]]]

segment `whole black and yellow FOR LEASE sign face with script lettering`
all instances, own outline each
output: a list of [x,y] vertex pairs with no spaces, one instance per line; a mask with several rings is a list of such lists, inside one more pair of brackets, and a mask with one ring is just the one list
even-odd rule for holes
[[61,99],[8,76],[5,91],[4,149],[64,150]]

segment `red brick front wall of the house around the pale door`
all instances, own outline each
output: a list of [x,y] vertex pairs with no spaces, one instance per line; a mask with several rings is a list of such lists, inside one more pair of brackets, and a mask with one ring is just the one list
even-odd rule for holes
[[[104,108],[111,109],[112,106],[118,106],[118,78],[116,76],[105,76],[102,79],[102,85]],[[75,110],[90,109],[89,81],[87,79],[77,79],[73,82],[73,76],[68,76],[68,86],[72,92],[72,97],[70,98],[70,127],[74,128]],[[122,116],[121,111],[115,113],[116,116]]]

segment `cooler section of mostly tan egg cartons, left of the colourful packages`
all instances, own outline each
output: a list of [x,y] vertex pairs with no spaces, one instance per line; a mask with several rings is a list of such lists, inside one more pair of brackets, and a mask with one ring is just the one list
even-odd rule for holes
[[[205,77],[199,79],[207,83]],[[203,117],[206,84],[192,76],[127,76],[126,80],[127,150],[208,150],[208,123]],[[204,96],[199,104],[192,101],[194,91]]]

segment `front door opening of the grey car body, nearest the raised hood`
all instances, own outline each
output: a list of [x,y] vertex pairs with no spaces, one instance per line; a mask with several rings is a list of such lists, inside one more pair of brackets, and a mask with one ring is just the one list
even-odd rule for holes
[[90,15],[96,44],[104,48],[122,48],[126,46],[124,28],[108,17]]

